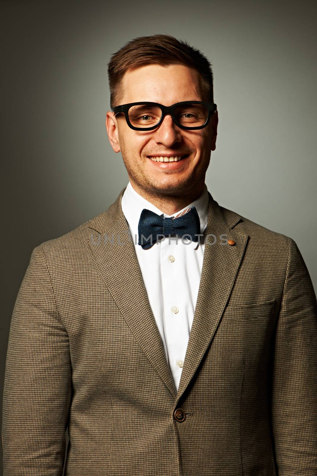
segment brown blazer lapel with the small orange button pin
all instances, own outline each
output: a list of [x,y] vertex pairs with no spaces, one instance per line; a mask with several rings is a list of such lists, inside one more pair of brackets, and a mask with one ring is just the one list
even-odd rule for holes
[[[209,209],[205,236],[213,234],[217,240],[212,245],[205,242],[201,280],[177,401],[192,380],[217,330],[249,239],[246,233],[233,229],[241,220],[240,215],[226,210],[225,218],[221,207],[209,192],[208,194]],[[235,245],[221,244],[222,234],[225,234],[227,239],[233,239]],[[209,241],[213,243],[214,238],[211,236]]]

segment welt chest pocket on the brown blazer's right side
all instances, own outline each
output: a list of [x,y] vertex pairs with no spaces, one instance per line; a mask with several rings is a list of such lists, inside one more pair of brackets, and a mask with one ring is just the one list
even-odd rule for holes
[[267,317],[274,312],[275,299],[257,304],[229,305],[226,307],[222,318],[230,320],[253,320]]

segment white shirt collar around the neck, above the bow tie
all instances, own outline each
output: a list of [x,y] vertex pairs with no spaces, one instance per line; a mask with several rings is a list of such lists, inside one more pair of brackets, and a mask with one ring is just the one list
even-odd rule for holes
[[[125,215],[126,221],[129,224],[134,242],[135,242],[135,236],[136,236],[136,239],[138,239],[138,224],[139,224],[139,219],[140,219],[140,215],[143,208],[147,208],[148,210],[154,211],[154,213],[157,213],[157,215],[160,215],[160,216],[163,215],[163,218],[169,218],[169,217],[174,217],[175,215],[182,212],[186,208],[195,207],[199,216],[199,220],[200,220],[200,225],[201,225],[200,232],[203,233],[207,226],[208,204],[209,204],[209,196],[208,196],[208,189],[206,184],[204,184],[203,191],[201,195],[198,198],[196,198],[196,200],[189,203],[188,205],[186,205],[186,207],[182,208],[181,210],[178,210],[177,212],[173,213],[173,215],[166,215],[165,213],[163,213],[162,210],[155,207],[153,203],[149,202],[144,197],[142,197],[139,193],[136,192],[136,190],[134,190],[130,181],[128,185],[126,186],[124,194],[121,199],[121,208]],[[189,245],[191,245],[192,248],[194,249],[197,248],[199,244],[199,242],[196,242],[196,241],[192,241],[190,243],[190,240],[187,240],[187,238],[183,238],[183,239],[188,241]]]

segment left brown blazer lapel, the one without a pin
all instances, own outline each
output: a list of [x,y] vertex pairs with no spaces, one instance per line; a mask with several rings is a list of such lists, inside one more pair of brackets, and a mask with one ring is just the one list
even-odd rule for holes
[[[146,294],[134,244],[132,240],[129,241],[129,228],[121,208],[124,191],[125,188],[106,212],[87,223],[93,239],[89,236],[85,244],[134,337],[166,387],[176,397],[173,377]],[[105,234],[109,239],[113,236],[114,244],[105,244]],[[100,244],[94,245],[93,241],[98,243],[99,238]]]

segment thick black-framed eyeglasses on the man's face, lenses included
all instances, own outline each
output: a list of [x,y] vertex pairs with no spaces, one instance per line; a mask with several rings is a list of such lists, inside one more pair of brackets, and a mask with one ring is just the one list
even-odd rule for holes
[[172,116],[173,122],[181,129],[203,129],[207,126],[217,104],[203,101],[183,101],[172,106],[157,102],[131,102],[115,106],[114,114],[123,112],[128,126],[134,130],[153,130],[160,126],[164,117]]

